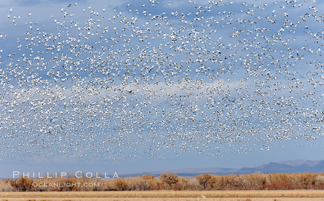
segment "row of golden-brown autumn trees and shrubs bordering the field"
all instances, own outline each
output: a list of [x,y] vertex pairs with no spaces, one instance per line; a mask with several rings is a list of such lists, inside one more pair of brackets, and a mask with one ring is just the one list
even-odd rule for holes
[[[33,186],[33,183],[52,183],[52,186]],[[53,183],[79,183],[76,186],[53,186]],[[84,186],[98,183],[98,186]],[[162,173],[159,177],[142,175],[100,181],[93,178],[3,179],[0,191],[148,191],[148,190],[324,190],[324,173],[263,174],[198,174],[193,178]]]

